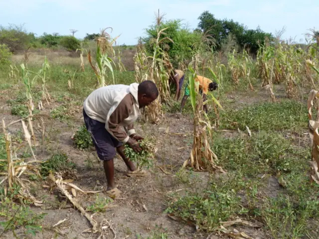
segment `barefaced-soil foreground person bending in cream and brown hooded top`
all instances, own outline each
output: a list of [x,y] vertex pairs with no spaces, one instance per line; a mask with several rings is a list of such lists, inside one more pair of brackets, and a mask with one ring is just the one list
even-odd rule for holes
[[90,132],[98,157],[103,161],[107,179],[106,193],[118,197],[121,193],[114,182],[114,157],[116,151],[123,158],[131,175],[146,175],[137,169],[124,154],[127,143],[135,152],[141,152],[138,141],[144,138],[137,134],[134,122],[140,109],[150,105],[159,96],[157,86],[152,81],[140,84],[110,85],[93,91],[84,101],[83,116]]

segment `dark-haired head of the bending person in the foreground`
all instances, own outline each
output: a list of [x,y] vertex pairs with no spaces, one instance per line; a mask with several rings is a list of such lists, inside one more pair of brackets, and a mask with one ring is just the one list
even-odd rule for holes
[[138,87],[140,108],[150,105],[159,96],[159,90],[153,81],[143,81]]

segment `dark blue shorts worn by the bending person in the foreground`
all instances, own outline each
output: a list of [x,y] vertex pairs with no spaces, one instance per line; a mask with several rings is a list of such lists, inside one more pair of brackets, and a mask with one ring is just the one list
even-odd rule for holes
[[120,147],[122,142],[114,138],[105,128],[105,123],[101,123],[95,119],[91,119],[83,109],[83,117],[87,130],[90,132],[93,144],[99,159],[109,161],[116,155],[117,147]]

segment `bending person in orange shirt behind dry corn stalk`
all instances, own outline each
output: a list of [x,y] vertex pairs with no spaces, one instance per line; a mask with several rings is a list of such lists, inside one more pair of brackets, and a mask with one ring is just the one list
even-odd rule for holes
[[[195,78],[195,82],[199,83],[199,93],[203,95],[203,102],[205,102],[207,100],[208,91],[214,91],[218,87],[217,83],[212,82],[210,79],[203,77],[203,76],[197,76]],[[189,86],[188,86],[188,82],[187,82],[187,85],[185,87],[184,97],[181,100],[181,104],[180,104],[180,113],[182,112],[182,110],[185,106],[186,100],[189,96],[190,96],[190,91],[189,91]],[[203,108],[204,108],[205,112],[208,113],[208,107],[206,104],[203,106]]]

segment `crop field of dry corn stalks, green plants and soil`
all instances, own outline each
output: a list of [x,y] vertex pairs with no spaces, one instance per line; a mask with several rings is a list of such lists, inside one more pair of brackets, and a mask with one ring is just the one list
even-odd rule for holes
[[[266,42],[257,55],[198,47],[179,64],[182,96],[190,87],[179,113],[165,30],[157,34],[153,55],[141,42],[115,51],[102,34],[92,56],[31,49],[1,68],[0,238],[318,239],[319,43]],[[219,85],[207,114],[196,75]],[[130,157],[150,175],[128,177],[116,158],[122,195],[112,199],[83,101],[98,87],[144,80],[160,96],[135,127],[155,147]]]

